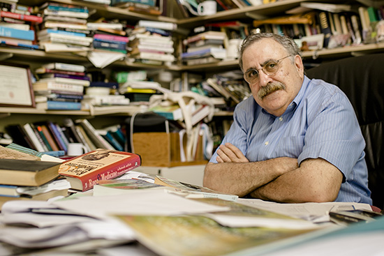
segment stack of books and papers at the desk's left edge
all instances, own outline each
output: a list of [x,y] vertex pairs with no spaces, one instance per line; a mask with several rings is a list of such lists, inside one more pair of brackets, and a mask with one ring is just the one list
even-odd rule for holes
[[68,181],[59,177],[57,162],[0,146],[0,209],[12,200],[47,200],[68,195]]

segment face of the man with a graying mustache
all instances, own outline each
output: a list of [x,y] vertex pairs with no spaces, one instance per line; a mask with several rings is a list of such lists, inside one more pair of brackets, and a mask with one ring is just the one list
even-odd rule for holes
[[[299,93],[304,79],[302,59],[298,55],[282,59],[288,55],[282,45],[265,38],[246,48],[242,56],[244,72],[251,68],[258,70],[258,80],[249,84],[253,98],[274,116],[281,116],[286,111]],[[268,61],[279,59],[279,70],[274,75],[266,75],[261,70]]]

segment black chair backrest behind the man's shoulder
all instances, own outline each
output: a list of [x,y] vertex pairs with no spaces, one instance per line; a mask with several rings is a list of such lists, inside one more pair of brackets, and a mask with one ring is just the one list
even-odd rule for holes
[[307,70],[307,76],[335,84],[348,96],[367,144],[371,198],[374,206],[384,209],[384,54],[323,63]]

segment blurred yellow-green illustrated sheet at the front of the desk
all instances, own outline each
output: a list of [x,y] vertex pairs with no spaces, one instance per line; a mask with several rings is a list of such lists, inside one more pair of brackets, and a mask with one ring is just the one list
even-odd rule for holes
[[269,250],[279,246],[274,242],[305,240],[311,233],[319,234],[313,229],[225,227],[205,216],[118,217],[135,231],[140,243],[168,256],[260,255],[267,246]]

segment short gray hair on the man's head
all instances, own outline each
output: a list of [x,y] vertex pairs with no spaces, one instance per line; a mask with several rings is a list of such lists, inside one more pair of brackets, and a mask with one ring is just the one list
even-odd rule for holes
[[271,39],[275,40],[277,43],[280,43],[281,45],[283,45],[284,48],[286,48],[288,54],[293,55],[293,56],[299,55],[301,57],[299,47],[297,46],[295,41],[293,39],[289,38],[288,36],[280,36],[280,35],[277,35],[275,33],[251,33],[251,35],[247,36],[244,39],[242,46],[240,47],[240,51],[239,51],[239,66],[242,69],[242,71],[244,71],[243,70],[243,52],[244,52],[244,50],[246,50],[246,48],[248,48],[249,45],[252,45],[253,43],[256,43],[259,40],[262,40],[264,38],[271,38]]

